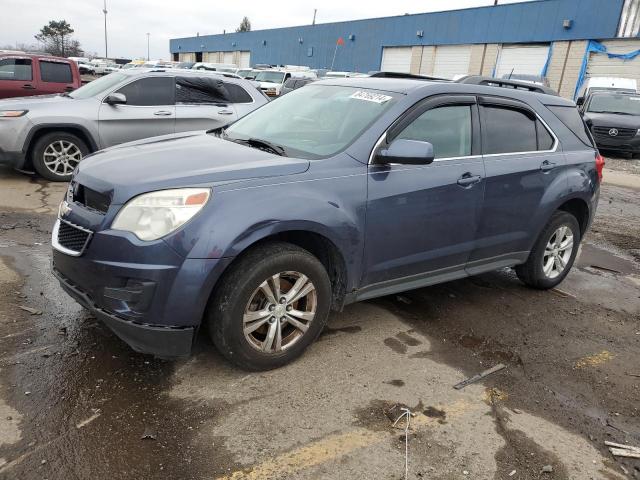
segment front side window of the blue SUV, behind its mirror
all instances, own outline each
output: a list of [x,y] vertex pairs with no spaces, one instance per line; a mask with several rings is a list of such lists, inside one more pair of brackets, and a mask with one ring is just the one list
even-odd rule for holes
[[427,110],[397,138],[431,143],[435,158],[471,155],[471,107],[455,105]]

